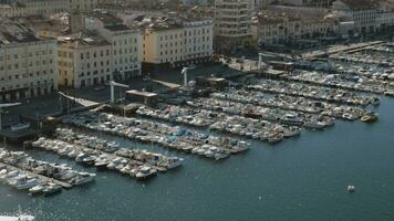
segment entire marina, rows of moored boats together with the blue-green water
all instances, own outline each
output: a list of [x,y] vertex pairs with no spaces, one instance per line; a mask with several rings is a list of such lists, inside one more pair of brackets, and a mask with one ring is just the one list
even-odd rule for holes
[[[364,56],[363,50],[391,53],[391,48],[380,44],[351,51],[350,57]],[[81,220],[73,213],[76,206],[59,209],[64,201],[84,202],[77,209],[86,211],[85,220],[122,220],[129,212],[135,213],[133,219],[164,220],[168,211],[177,214],[174,220],[186,220],[190,204],[198,213],[194,220],[211,219],[206,213],[216,210],[221,213],[215,213],[211,220],[257,220],[261,215],[289,220],[293,218],[284,214],[289,211],[300,211],[300,220],[315,220],[322,214],[342,219],[350,210],[364,208],[359,202],[362,200],[371,202],[375,211],[391,213],[387,194],[392,191],[386,187],[393,180],[385,175],[393,167],[394,155],[390,148],[394,141],[390,135],[394,125],[392,66],[332,59],[329,63],[335,70],[328,71],[319,67],[319,61],[311,63],[315,64],[313,69],[298,66],[278,77],[251,73],[227,80],[225,87],[205,95],[190,96],[179,88],[182,92],[170,92],[167,99],[157,92],[159,102],[155,105],[126,99],[137,106],[135,113],[114,105],[121,110],[96,108],[63,115],[53,134],[40,135],[29,143],[33,148],[25,150],[34,159],[58,161],[56,168],[68,168],[61,170],[61,179],[60,175],[41,175],[38,169],[31,171],[2,158],[0,172],[25,175],[28,187],[34,185],[32,178],[37,179],[39,185],[24,192],[43,196],[96,180],[48,201],[34,198],[56,211],[45,211],[46,215],[62,215],[55,220],[64,221]],[[66,165],[61,164],[64,161]],[[33,162],[41,164],[29,164]],[[365,168],[365,162],[373,167]],[[79,179],[72,178],[74,175]],[[0,193],[9,193],[1,188]],[[380,188],[382,191],[376,191]],[[37,202],[23,201],[24,196],[18,192],[23,191],[10,194],[23,207],[39,208]],[[314,201],[312,193],[319,196]],[[224,201],[228,196],[230,201]],[[321,198],[328,203],[317,206],[315,200]],[[129,203],[133,207],[125,211]],[[6,208],[10,210],[13,204]],[[152,213],[151,206],[157,211]],[[339,214],[328,214],[325,206]],[[116,211],[114,217],[106,214],[108,208]],[[250,209],[256,212],[245,212]],[[310,210],[319,214],[304,215]],[[352,215],[354,220],[364,219],[359,212]]]

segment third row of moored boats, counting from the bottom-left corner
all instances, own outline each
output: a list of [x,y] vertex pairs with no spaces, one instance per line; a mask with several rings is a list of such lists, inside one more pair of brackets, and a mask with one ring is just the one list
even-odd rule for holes
[[169,149],[191,152],[216,160],[248,149],[248,144],[242,140],[216,137],[178,126],[173,127],[147,119],[120,117],[106,113],[85,112],[75,114],[64,117],[63,123],[149,144],[159,144]]

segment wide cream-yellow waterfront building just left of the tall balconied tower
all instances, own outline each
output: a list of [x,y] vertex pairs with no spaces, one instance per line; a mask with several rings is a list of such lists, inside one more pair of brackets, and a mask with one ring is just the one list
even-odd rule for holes
[[149,19],[144,25],[143,62],[145,66],[184,66],[210,61],[212,21],[182,18]]

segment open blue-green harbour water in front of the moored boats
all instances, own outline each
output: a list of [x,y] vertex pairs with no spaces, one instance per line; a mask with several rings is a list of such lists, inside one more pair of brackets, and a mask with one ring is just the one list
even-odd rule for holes
[[[277,145],[250,140],[248,151],[219,162],[96,134],[185,159],[147,181],[27,150],[37,159],[96,172],[96,181],[50,198],[0,186],[0,213],[20,206],[39,221],[394,220],[393,109],[394,101],[383,97],[375,124],[336,120]],[[346,192],[348,185],[355,186],[354,193]]]

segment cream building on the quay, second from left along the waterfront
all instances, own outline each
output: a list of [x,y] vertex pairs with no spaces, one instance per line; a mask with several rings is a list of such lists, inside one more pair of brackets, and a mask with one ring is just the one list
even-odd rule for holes
[[59,38],[59,85],[85,87],[112,80],[111,44],[97,35]]

